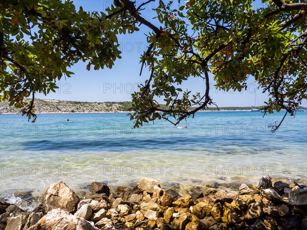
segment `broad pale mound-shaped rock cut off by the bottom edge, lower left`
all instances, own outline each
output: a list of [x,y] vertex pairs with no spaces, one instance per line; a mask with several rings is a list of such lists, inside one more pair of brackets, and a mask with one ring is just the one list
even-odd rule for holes
[[83,218],[74,216],[61,209],[53,209],[43,216],[29,230],[99,230]]

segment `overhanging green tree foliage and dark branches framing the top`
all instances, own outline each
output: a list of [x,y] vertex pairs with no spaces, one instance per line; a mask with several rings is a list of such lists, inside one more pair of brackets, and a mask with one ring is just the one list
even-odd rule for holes
[[[286,109],[285,116],[293,116],[306,99],[307,3],[262,0],[253,7],[253,0],[190,0],[173,7],[160,0],[154,9],[159,23],[153,25],[142,16],[143,6],[153,1],[137,7],[115,0],[105,13],[76,11],[69,1],[2,1],[1,99],[33,116],[33,103],[24,104],[24,97],[54,90],[55,80],[69,77],[67,68],[79,60],[87,68],[111,68],[120,58],[117,35],[144,26],[152,32],[141,74],[146,68],[150,76],[132,95],[136,127],[155,119],[177,125],[214,105],[210,75],[217,88],[237,91],[254,78],[269,94],[261,107],[265,114]],[[191,77],[204,79],[203,92],[181,89]]]

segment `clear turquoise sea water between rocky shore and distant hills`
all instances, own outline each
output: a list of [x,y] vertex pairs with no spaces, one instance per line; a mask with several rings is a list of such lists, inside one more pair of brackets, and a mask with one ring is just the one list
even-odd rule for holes
[[199,112],[181,124],[187,129],[165,121],[131,129],[125,113],[39,114],[34,124],[2,114],[0,196],[39,195],[60,180],[78,191],[92,181],[120,186],[143,176],[165,186],[256,185],[267,174],[306,183],[307,112],[271,133],[268,125],[282,116]]

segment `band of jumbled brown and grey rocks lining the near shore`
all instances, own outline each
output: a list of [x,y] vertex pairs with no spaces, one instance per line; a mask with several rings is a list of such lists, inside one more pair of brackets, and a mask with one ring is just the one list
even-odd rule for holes
[[41,204],[25,212],[0,201],[0,230],[94,229],[307,229],[307,186],[261,177],[236,192],[208,189],[180,196],[158,181],[110,192],[93,182],[80,199],[64,182],[50,185]]

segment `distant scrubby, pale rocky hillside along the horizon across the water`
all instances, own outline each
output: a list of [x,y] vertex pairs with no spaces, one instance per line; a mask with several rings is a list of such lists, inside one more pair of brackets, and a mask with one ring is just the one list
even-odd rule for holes
[[[29,99],[27,99],[30,101]],[[167,108],[165,105],[161,105]],[[95,112],[125,112],[131,108],[131,102],[79,102],[59,100],[35,100],[36,113],[95,113]],[[220,110],[249,110],[252,107],[219,107]],[[306,109],[301,107],[301,109]],[[216,107],[206,110],[216,111]],[[9,102],[0,102],[0,113],[20,113],[20,109],[9,106]]]

